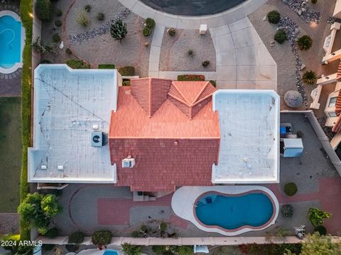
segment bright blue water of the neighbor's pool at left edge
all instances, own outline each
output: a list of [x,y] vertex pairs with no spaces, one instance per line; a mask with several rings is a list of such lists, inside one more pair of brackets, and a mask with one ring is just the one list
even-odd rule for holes
[[11,16],[0,18],[0,67],[21,62],[21,22]]

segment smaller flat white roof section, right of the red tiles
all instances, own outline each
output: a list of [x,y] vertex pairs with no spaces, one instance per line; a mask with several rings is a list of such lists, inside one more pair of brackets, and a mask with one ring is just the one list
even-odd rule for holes
[[220,152],[212,183],[279,182],[279,96],[272,90],[220,89]]

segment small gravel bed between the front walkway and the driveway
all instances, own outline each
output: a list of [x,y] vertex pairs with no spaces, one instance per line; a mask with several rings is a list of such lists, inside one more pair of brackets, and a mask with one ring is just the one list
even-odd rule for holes
[[[188,53],[193,51],[193,55]],[[202,67],[202,61],[209,60],[207,67]],[[197,71],[215,72],[215,46],[210,32],[200,35],[199,30],[176,30],[175,36],[163,33],[160,71]]]

